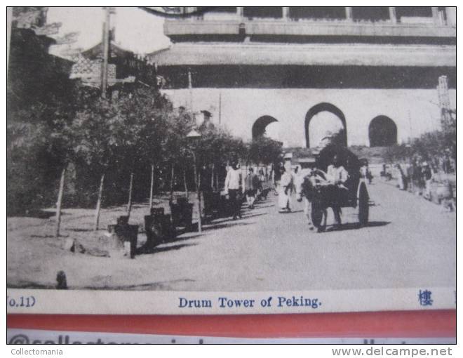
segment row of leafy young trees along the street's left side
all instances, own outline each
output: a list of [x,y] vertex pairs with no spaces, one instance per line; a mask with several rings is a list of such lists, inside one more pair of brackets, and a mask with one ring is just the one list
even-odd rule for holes
[[197,128],[201,138],[192,148],[187,133],[194,116],[174,109],[155,88],[125,84],[111,99],[79,84],[67,91],[66,100],[39,103],[46,114],[37,117],[36,105],[25,103],[9,113],[9,214],[54,204],[58,197],[58,211],[60,198],[68,206],[95,206],[98,227],[103,197],[105,205],[129,197],[130,213],[132,199],[172,192],[177,181],[185,190],[192,187],[192,150],[199,168],[212,172],[214,187],[214,170],[229,161],[270,164],[281,154],[279,142],[245,143],[212,124]]

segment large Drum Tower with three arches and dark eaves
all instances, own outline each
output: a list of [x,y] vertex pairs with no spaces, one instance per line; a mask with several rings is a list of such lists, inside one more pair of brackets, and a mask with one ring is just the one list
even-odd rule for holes
[[317,145],[320,128],[347,145],[406,142],[439,128],[441,76],[455,108],[456,8],[180,12],[164,24],[173,46],[149,55],[163,91],[246,140],[277,124],[287,146]]

